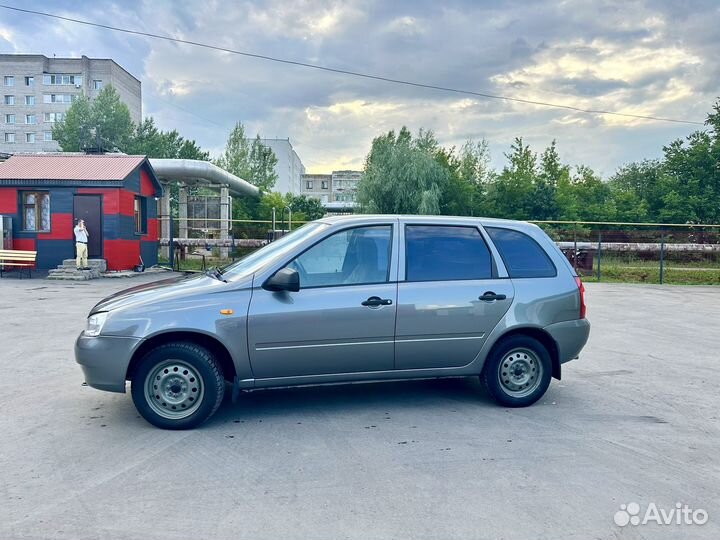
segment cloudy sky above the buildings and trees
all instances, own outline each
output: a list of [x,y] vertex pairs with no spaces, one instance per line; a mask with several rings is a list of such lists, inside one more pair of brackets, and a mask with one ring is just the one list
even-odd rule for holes
[[[704,121],[720,95],[717,0],[4,0],[7,5],[380,76],[581,108]],[[289,137],[308,172],[360,168],[407,125],[444,145],[512,139],[607,176],[699,126],[411,88],[0,9],[0,52],[109,57],[143,114],[217,154],[233,124]]]

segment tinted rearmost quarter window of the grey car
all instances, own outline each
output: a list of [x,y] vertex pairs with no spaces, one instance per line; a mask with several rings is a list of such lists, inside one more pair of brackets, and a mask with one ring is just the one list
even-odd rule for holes
[[555,265],[545,250],[527,234],[511,229],[485,227],[511,278],[554,277]]

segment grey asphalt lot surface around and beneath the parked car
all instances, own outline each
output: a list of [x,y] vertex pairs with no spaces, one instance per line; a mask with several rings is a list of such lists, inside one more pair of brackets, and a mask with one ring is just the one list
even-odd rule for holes
[[[720,538],[720,288],[587,285],[590,342],[530,408],[476,379],[296,388],[170,432],[72,355],[149,278],[0,280],[0,539]],[[632,502],[709,520],[616,525]]]

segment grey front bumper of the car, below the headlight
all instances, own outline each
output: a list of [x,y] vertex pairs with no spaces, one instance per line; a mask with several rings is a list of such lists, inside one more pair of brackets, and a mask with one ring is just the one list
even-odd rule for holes
[[85,374],[85,382],[98,390],[125,392],[125,375],[141,341],[134,337],[80,334],[75,341],[75,361]]

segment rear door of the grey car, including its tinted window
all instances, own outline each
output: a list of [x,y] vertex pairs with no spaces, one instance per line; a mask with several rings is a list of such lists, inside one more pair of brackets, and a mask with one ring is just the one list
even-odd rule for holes
[[511,280],[478,226],[410,221],[401,243],[395,368],[469,364],[512,304]]

